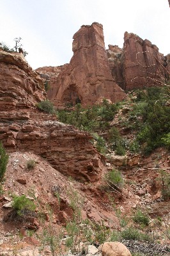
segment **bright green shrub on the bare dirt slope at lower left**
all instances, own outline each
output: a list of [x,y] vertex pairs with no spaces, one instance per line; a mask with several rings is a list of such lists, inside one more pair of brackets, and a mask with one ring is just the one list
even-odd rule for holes
[[13,210],[19,216],[23,216],[26,211],[35,211],[36,205],[29,198],[26,198],[25,195],[22,196],[13,196]]

